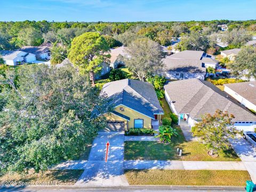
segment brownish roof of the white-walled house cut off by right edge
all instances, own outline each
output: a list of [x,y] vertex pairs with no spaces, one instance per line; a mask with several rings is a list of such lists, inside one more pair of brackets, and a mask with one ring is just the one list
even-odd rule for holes
[[256,82],[230,83],[224,85],[256,105]]

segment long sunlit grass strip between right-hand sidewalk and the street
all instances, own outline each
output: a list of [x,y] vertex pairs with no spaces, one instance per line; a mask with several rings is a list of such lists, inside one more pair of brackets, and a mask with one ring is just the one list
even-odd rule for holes
[[130,185],[245,186],[247,171],[126,170]]

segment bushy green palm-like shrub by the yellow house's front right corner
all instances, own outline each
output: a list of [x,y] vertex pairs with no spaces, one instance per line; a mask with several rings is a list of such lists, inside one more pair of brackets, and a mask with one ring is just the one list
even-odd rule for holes
[[159,126],[159,133],[156,137],[160,138],[162,142],[171,142],[172,137],[177,137],[177,130],[173,129],[170,125]]

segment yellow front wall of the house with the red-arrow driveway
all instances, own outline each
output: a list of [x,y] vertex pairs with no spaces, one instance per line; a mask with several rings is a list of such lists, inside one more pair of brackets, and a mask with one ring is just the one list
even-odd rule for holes
[[[123,107],[124,111],[121,111],[120,107]],[[130,117],[130,121],[127,121],[128,129],[134,128],[134,119],[143,119],[143,128],[151,129],[151,118],[150,117],[142,115],[142,114],[138,113],[137,111],[127,108],[123,105],[116,107],[115,111],[117,111],[118,113],[121,113],[127,117]],[[114,115],[114,114],[105,114],[105,117],[106,117],[107,121],[124,121],[126,123],[126,119],[119,117],[117,115]],[[125,127],[127,127],[127,126],[125,126]]]

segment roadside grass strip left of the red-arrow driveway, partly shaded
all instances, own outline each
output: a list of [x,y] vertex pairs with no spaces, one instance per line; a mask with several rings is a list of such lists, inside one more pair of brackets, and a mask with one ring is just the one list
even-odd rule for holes
[[[13,181],[17,182],[31,182],[34,185],[35,182],[54,182],[55,185],[74,185],[79,179],[84,170],[48,170],[42,173],[36,173],[29,171],[26,173],[6,173],[0,176],[0,181]],[[50,184],[48,184],[50,185]]]

